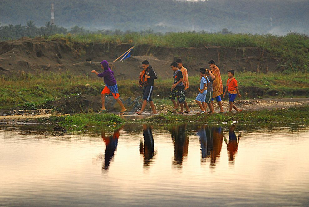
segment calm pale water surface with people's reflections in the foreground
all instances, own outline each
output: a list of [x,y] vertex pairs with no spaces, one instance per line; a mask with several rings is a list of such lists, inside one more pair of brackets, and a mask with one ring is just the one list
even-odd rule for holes
[[0,128],[0,206],[309,206],[309,127]]

